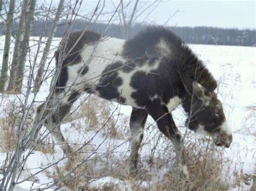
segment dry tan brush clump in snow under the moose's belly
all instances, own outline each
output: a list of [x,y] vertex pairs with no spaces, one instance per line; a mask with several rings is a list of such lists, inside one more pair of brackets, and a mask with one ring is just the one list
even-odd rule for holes
[[129,117],[121,114],[119,107],[109,101],[90,95],[79,109],[74,109],[71,116],[79,119],[79,126],[85,126],[86,131],[102,129],[104,136],[117,139],[129,136]]

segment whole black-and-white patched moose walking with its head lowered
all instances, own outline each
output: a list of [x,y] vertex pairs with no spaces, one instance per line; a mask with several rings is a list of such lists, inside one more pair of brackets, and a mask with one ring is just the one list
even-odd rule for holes
[[[60,122],[85,91],[131,105],[131,172],[136,172],[143,128],[151,115],[173,143],[178,165],[188,175],[183,138],[171,114],[178,105],[187,114],[185,124],[190,130],[210,135],[217,146],[229,147],[232,142],[223,105],[214,93],[217,81],[180,37],[164,27],[148,27],[130,40],[92,31],[70,33],[55,57],[60,67],[55,91],[45,111],[44,104],[38,107],[37,120],[39,114],[47,116],[44,125],[62,143],[67,156],[72,149]],[[55,103],[57,107],[52,107]]]

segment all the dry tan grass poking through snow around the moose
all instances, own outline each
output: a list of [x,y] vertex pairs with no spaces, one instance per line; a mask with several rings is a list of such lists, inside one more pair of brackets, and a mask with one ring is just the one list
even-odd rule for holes
[[[22,107],[17,107],[17,105],[17,102],[10,102],[5,108],[5,119],[0,121],[2,152],[12,152],[16,146],[17,125],[22,115]],[[251,113],[248,121],[252,120],[251,117],[255,117],[255,108],[249,108]],[[103,133],[104,137],[123,139],[125,142],[129,139],[130,134],[129,117],[119,114],[118,109],[113,114],[113,109],[114,107],[110,102],[90,96],[89,100],[80,105],[79,109],[74,109],[75,112],[72,115],[76,116],[76,123],[72,125],[73,122],[70,122],[70,124],[77,130],[86,128],[86,131],[97,131],[103,127],[100,132]],[[69,117],[66,122],[71,120],[72,118]],[[28,118],[28,126],[32,122],[33,115],[31,114]],[[152,128],[156,127],[153,126]],[[152,129],[146,131],[152,131]],[[146,132],[145,134],[149,135],[150,133]],[[148,146],[150,149],[149,153],[143,155],[139,162],[139,173],[136,178],[129,174],[129,161],[127,160],[129,152],[122,159],[111,153],[112,148],[116,145],[108,145],[106,153],[97,153],[95,147],[83,147],[72,161],[72,167],[78,166],[78,168],[66,178],[64,176],[71,171],[70,168],[67,169],[69,164],[66,164],[67,166],[63,163],[56,164],[51,169],[46,170],[45,173],[56,182],[57,186],[66,185],[63,188],[81,188],[84,190],[122,190],[124,188],[122,184],[123,186],[124,184],[129,185],[129,188],[133,190],[227,190],[231,186],[239,186],[248,180],[250,182],[250,180],[255,179],[254,176],[248,178],[240,172],[232,182],[229,177],[232,170],[227,168],[227,164],[231,162],[223,157],[223,151],[216,149],[208,138],[195,138],[194,136],[193,133],[189,133],[186,137],[185,148],[187,167],[190,173],[189,181],[180,178],[179,173],[175,171],[175,155],[172,144],[159,132],[154,136],[144,137],[144,146]],[[161,144],[159,140],[162,140]],[[38,150],[44,154],[57,154],[57,147],[51,142],[52,139],[46,137],[43,143],[39,145]],[[79,148],[79,144],[74,144],[72,147],[74,149]],[[165,146],[163,147],[163,145]],[[95,153],[92,154],[93,152]],[[7,158],[6,162],[8,160]],[[49,162],[51,161],[49,160]],[[169,172],[163,171],[164,168],[168,169]],[[114,182],[103,183],[99,188],[92,187],[90,184],[87,185],[90,181],[104,176],[120,180],[121,186]],[[147,183],[146,187],[142,184],[143,181]]]

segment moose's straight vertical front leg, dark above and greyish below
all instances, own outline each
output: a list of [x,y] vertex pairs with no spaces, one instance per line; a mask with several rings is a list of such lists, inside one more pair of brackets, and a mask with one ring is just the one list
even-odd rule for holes
[[132,108],[130,118],[131,130],[131,154],[130,154],[130,173],[137,171],[138,165],[138,150],[143,139],[143,129],[147,119],[147,111],[143,109]]

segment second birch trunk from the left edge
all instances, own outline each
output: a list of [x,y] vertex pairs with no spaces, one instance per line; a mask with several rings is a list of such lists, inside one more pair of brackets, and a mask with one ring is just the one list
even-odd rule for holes
[[21,17],[19,18],[19,26],[18,26],[18,31],[16,35],[16,40],[15,40],[14,54],[11,62],[10,81],[7,88],[8,93],[15,93],[14,82],[15,82],[15,77],[17,72],[17,63],[18,63],[19,53],[21,52],[20,46],[21,46],[22,34],[24,34],[24,29],[25,29],[25,17],[26,17],[26,10],[28,9],[28,5],[29,5],[29,0],[24,0],[22,5]]

